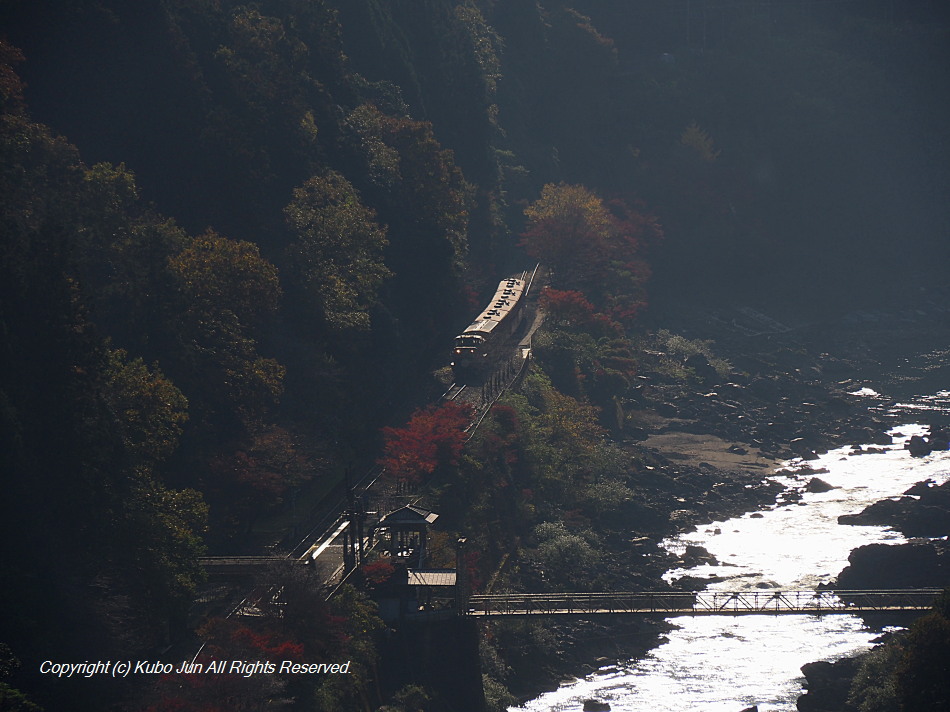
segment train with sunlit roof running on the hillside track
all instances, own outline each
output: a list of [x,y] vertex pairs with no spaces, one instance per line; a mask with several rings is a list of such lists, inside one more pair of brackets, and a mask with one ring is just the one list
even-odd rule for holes
[[468,328],[455,337],[452,370],[456,380],[486,370],[492,350],[521,323],[525,290],[523,278],[510,277],[499,283],[495,296]]

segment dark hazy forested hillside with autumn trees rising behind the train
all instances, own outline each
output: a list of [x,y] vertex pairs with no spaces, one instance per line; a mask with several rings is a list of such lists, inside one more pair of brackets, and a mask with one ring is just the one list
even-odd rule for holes
[[601,408],[651,302],[940,286],[948,31],[929,0],[4,0],[0,642],[174,639],[196,556],[376,452],[529,259],[589,347],[551,378]]

